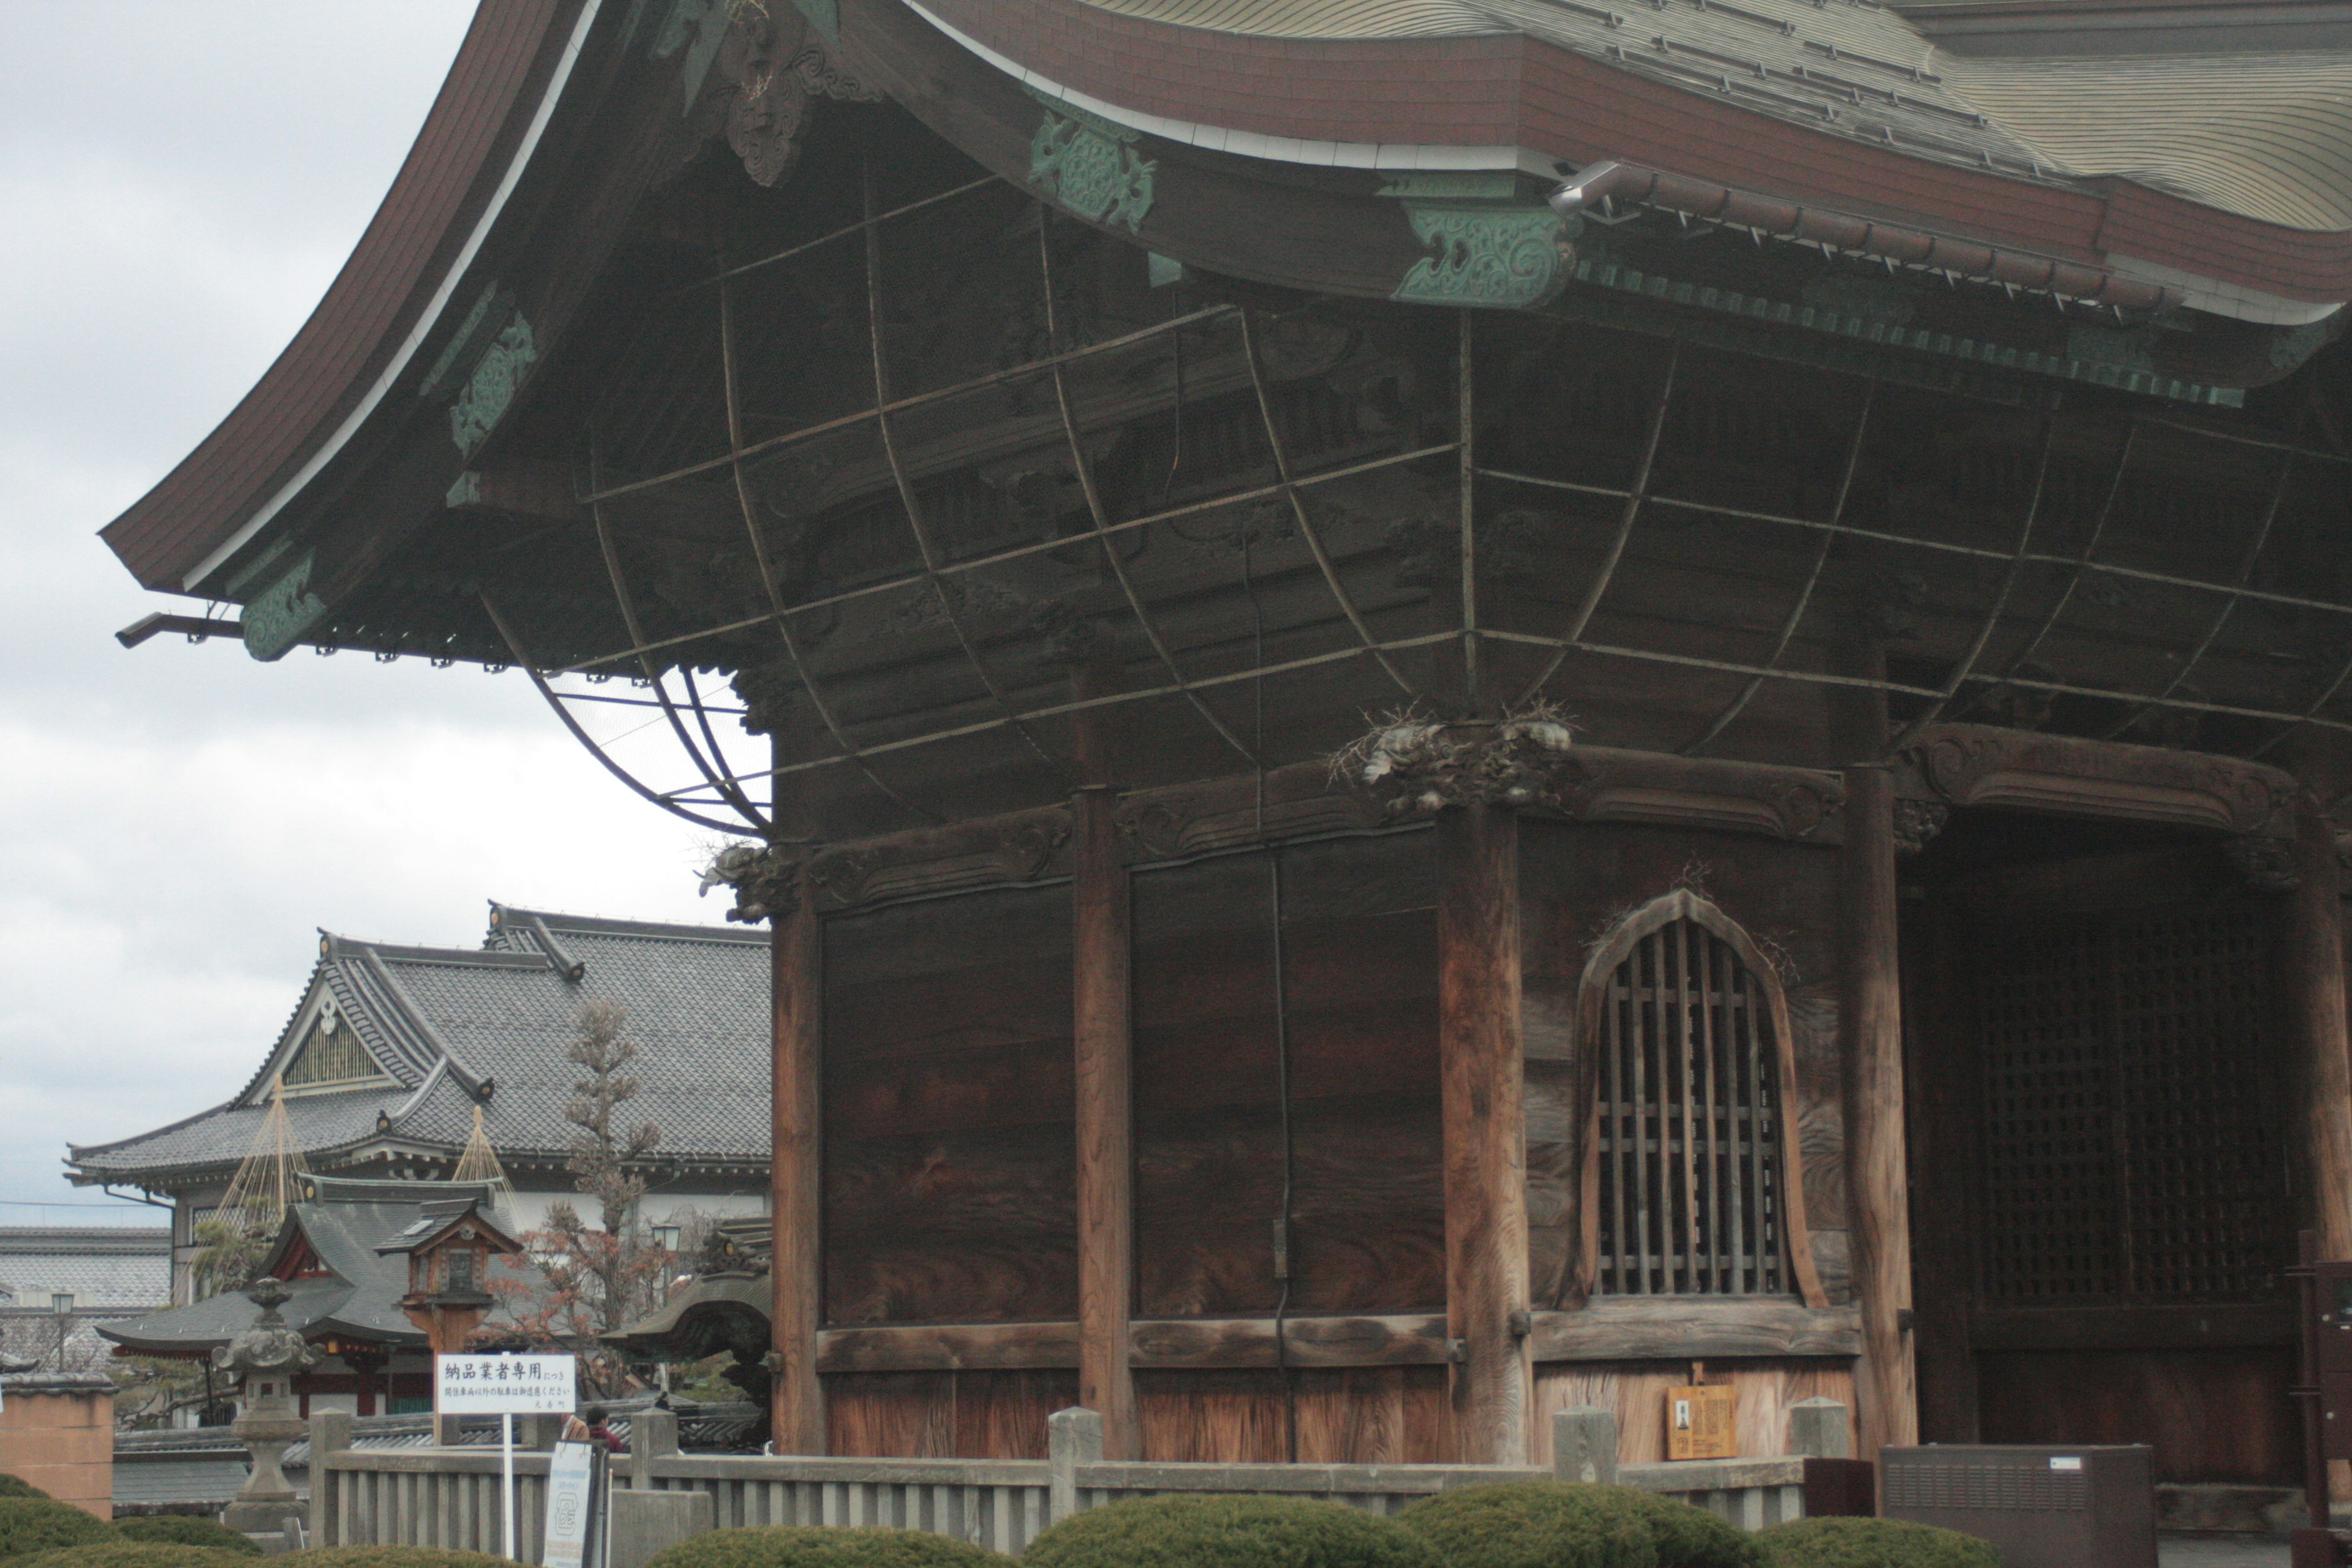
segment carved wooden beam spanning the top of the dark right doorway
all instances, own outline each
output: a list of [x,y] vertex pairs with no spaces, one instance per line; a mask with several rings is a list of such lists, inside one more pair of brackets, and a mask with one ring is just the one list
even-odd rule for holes
[[2234,757],[1936,724],[1896,759],[1896,797],[2293,837],[2296,780]]

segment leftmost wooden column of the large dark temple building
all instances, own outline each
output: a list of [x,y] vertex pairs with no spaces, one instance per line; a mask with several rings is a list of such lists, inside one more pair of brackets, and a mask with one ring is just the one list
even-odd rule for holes
[[774,924],[774,1373],[776,1453],[826,1450],[826,1385],[816,1375],[823,1326],[823,924],[807,870],[790,914]]

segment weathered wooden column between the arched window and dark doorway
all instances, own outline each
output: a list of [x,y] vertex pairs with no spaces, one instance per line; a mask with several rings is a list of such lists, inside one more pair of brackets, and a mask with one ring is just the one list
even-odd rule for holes
[[1896,788],[1884,766],[1846,769],[1842,853],[1846,1201],[1863,1359],[1853,1394],[1865,1460],[1919,1441],[1910,1340],[1910,1190],[1903,1159],[1903,985],[1896,945]]

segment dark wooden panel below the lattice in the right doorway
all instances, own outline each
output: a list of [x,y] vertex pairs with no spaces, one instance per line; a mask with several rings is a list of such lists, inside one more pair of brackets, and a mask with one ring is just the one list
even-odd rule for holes
[[2300,1483],[2288,1349],[1978,1352],[1987,1443],[2154,1443],[2157,1481]]

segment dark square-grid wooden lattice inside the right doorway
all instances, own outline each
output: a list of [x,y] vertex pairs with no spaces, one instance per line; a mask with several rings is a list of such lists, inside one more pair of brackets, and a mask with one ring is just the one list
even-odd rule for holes
[[1985,1295],[2272,1291],[2286,1232],[2260,914],[2037,924],[1985,957]]

